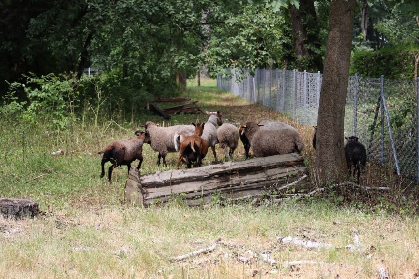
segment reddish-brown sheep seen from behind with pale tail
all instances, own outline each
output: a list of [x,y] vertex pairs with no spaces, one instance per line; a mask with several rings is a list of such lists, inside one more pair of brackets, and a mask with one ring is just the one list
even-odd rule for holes
[[180,143],[178,161],[176,167],[178,168],[180,162],[183,161],[188,168],[192,167],[192,161],[196,161],[195,167],[201,166],[202,159],[208,153],[207,141],[201,136],[204,131],[205,124],[193,124],[195,126],[195,134],[188,136]]

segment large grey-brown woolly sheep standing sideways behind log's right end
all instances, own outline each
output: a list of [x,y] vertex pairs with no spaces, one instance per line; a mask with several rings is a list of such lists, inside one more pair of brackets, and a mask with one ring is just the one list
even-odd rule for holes
[[262,130],[255,122],[241,126],[256,157],[301,152],[304,143],[296,129]]

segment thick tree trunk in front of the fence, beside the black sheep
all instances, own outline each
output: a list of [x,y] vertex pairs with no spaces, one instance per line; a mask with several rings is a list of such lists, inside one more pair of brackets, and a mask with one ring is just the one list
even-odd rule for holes
[[325,69],[317,119],[316,167],[320,181],[345,170],[344,116],[355,0],[332,0]]

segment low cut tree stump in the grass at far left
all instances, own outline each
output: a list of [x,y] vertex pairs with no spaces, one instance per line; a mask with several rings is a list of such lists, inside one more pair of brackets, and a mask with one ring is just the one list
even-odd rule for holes
[[39,204],[28,199],[0,198],[0,211],[4,218],[33,218],[39,214]]

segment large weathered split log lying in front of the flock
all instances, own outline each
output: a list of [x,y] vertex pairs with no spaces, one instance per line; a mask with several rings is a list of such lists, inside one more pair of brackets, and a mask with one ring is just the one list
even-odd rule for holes
[[[188,205],[200,205],[211,203],[214,198],[235,199],[276,191],[278,186],[297,181],[306,173],[303,157],[298,153],[142,176],[133,167],[125,185],[125,199],[137,205],[150,205],[178,197]],[[283,191],[306,189],[307,181],[291,185],[292,188]]]

